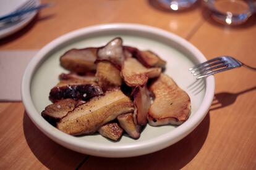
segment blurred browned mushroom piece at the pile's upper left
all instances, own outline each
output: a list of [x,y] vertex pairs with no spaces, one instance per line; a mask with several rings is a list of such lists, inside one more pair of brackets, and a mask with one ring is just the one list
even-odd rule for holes
[[61,66],[75,73],[95,71],[96,51],[98,48],[70,49],[61,56]]

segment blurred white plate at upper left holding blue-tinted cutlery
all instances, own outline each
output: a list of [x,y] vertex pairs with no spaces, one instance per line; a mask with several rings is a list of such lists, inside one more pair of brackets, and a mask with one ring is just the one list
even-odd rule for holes
[[[0,16],[10,14],[14,12],[15,9],[25,4],[28,0],[1,0],[0,4]],[[36,5],[40,4],[40,0],[34,0]],[[13,34],[23,27],[25,27],[36,15],[36,11],[30,12],[28,14],[23,15],[22,20],[19,22],[15,22],[12,25],[0,27],[0,39],[10,34]]]

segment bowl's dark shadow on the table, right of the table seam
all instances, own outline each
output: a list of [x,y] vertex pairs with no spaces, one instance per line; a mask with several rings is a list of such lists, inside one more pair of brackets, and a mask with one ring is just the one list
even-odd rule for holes
[[90,156],[82,169],[181,169],[186,166],[202,148],[207,138],[210,116],[203,119],[194,131],[171,147],[148,155],[132,158],[100,158]]

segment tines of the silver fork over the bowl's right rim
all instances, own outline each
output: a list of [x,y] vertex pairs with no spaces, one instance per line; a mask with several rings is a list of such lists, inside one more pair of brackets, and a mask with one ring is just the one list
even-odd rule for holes
[[198,76],[197,79],[200,79],[228,69],[228,63],[226,60],[222,60],[221,57],[217,57],[215,59],[208,60],[207,62],[195,65],[194,67],[189,68],[189,71],[193,73],[194,76]]

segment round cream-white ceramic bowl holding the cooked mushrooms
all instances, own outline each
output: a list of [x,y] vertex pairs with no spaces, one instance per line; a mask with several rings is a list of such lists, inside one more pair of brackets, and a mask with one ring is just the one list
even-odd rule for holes
[[[67,72],[59,65],[59,57],[71,48],[103,46],[109,40],[121,36],[125,45],[150,49],[167,63],[165,73],[190,95],[192,113],[181,126],[145,127],[140,139],[123,136],[112,142],[100,135],[73,137],[51,126],[40,115],[51,103],[50,89],[58,83],[58,75]],[[192,44],[179,36],[158,28],[135,24],[111,24],[82,28],[65,34],[43,47],[29,63],[22,80],[22,101],[33,123],[58,144],[77,152],[95,156],[128,157],[156,152],[187,136],[207,114],[213,99],[213,76],[190,89],[195,78],[188,68],[206,59]],[[196,84],[196,83],[195,83]],[[194,85],[193,85],[194,86]],[[202,91],[200,91],[202,89]]]

